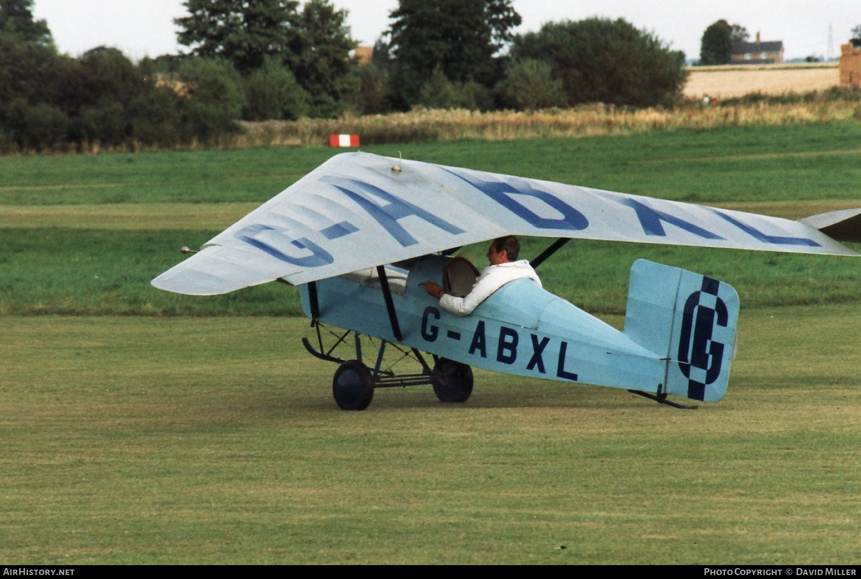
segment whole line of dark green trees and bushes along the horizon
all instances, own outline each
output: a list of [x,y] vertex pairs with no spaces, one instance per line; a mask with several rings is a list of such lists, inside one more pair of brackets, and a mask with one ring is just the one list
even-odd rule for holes
[[334,118],[415,106],[672,106],[684,54],[622,19],[513,34],[511,0],[400,0],[362,64],[330,0],[187,0],[179,55],[60,54],[33,0],[0,0],[0,147],[217,142],[237,120]]

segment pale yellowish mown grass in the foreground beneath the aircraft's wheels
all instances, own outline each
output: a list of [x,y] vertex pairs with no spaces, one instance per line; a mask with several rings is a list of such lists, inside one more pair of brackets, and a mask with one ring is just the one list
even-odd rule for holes
[[861,307],[740,327],[696,411],[479,371],[464,405],[387,389],[344,413],[307,321],[6,317],[3,556],[854,563]]

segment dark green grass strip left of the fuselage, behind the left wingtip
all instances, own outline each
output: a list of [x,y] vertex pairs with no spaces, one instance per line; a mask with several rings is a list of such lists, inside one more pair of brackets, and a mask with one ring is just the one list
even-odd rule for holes
[[[300,315],[298,290],[268,284],[201,299],[150,285],[177,248],[211,232],[0,229],[0,314]],[[170,266],[170,265],[169,265]]]

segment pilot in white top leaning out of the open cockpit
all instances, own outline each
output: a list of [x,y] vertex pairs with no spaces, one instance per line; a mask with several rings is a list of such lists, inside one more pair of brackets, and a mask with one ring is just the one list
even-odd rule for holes
[[465,297],[457,297],[446,294],[438,283],[427,281],[424,283],[424,291],[439,299],[439,305],[446,311],[457,315],[468,315],[492,295],[494,291],[501,288],[505,283],[521,279],[531,279],[541,287],[538,274],[532,269],[530,262],[526,259],[517,260],[520,253],[520,243],[513,235],[507,235],[493,240],[490,249],[487,250],[487,259],[490,265],[481,272],[475,280],[473,289]]

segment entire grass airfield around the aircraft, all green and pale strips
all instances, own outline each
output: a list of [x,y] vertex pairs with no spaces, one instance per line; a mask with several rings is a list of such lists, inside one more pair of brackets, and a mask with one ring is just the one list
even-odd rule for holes
[[[851,123],[367,150],[790,218],[861,206]],[[4,561],[857,563],[861,263],[574,241],[542,279],[616,326],[637,257],[739,289],[722,402],[479,371],[464,405],[385,389],[344,413],[293,290],[149,286],[331,154],[0,158]]]

